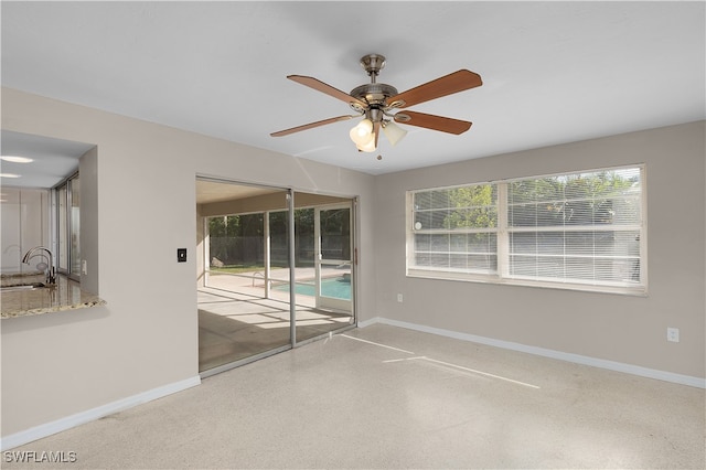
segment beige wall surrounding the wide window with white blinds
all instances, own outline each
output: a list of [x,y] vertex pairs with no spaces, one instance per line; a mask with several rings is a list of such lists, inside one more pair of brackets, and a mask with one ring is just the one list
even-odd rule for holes
[[[382,318],[705,377],[704,121],[376,178]],[[405,276],[405,191],[611,165],[646,165],[649,296]],[[403,293],[404,302],[396,296]],[[666,328],[681,342],[666,341]]]

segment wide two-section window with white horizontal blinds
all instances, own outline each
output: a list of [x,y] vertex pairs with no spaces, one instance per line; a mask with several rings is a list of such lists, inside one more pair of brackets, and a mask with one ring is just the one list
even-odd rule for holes
[[643,168],[410,191],[409,276],[644,292]]

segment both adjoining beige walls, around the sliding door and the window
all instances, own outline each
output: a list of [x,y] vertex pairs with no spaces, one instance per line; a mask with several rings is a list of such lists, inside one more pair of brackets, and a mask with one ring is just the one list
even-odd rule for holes
[[[197,374],[196,174],[360,196],[361,321],[384,317],[705,376],[704,122],[382,177],[6,88],[2,126],[97,146],[81,168],[82,191],[94,191],[82,226],[95,232],[82,246],[87,281],[108,302],[2,320],[2,436]],[[408,189],[640,162],[648,297],[405,276]],[[176,263],[180,247],[188,263]],[[665,341],[666,327],[681,329],[680,343]]]

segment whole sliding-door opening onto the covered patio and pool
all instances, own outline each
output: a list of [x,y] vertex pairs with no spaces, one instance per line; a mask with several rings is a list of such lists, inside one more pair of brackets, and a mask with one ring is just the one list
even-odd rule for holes
[[355,199],[200,177],[199,371],[355,325]]

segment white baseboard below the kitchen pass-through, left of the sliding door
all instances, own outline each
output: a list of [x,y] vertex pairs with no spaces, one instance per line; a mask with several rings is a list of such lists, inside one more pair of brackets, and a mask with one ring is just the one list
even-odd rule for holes
[[196,375],[195,377],[152,388],[151,391],[142,392],[127,398],[118,399],[116,402],[98,406],[96,408],[76,413],[75,415],[66,416],[64,418],[56,419],[55,421],[35,426],[33,428],[12,434],[10,436],[2,437],[2,440],[0,442],[0,450],[12,449],[14,447],[42,439],[53,434],[61,432],[89,421],[94,421],[96,419],[103,418],[104,416],[113,415],[114,413],[122,412],[125,409],[132,408],[133,406],[142,405],[153,399],[161,398],[200,384],[201,377]]

